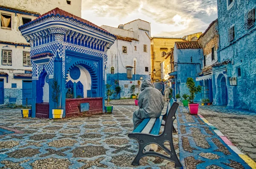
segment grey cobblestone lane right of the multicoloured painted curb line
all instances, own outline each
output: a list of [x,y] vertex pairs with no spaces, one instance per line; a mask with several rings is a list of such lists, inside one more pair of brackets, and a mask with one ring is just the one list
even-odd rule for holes
[[230,110],[225,106],[200,106],[199,114],[256,161],[256,112]]

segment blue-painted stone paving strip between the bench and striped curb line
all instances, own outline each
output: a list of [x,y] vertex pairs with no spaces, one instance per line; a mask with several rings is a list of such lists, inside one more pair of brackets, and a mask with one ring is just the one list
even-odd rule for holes
[[[184,123],[180,123],[181,121]],[[189,169],[250,169],[226,143],[202,123],[198,115],[190,115],[188,107],[178,108],[180,161]]]

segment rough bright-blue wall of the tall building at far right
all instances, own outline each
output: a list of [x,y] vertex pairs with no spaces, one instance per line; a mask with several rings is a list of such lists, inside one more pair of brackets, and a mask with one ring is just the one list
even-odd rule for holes
[[[256,111],[256,26],[246,27],[247,12],[256,8],[255,0],[235,0],[233,7],[227,10],[227,1],[218,1],[218,26],[220,34],[220,48],[218,51],[220,62],[229,59],[228,65],[215,67],[215,86],[213,93],[215,104],[221,104],[221,93],[218,86],[218,75],[226,78],[228,92],[228,107]],[[235,27],[235,38],[228,41],[228,30]],[[238,77],[237,68],[241,68]],[[229,77],[238,77],[238,85],[230,86]]]

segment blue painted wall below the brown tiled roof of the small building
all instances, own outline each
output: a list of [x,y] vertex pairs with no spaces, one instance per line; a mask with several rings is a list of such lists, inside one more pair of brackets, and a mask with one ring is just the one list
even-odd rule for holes
[[[203,49],[177,49],[175,45],[174,62],[175,71],[177,71],[177,76],[175,76],[175,95],[178,93],[180,96],[185,93],[189,95],[189,89],[186,87],[186,80],[188,77],[192,77],[195,80],[196,74],[202,71],[201,57],[203,57]],[[198,86],[199,82],[195,81],[195,84]],[[201,98],[201,93],[198,93],[195,95],[194,101],[199,102]]]

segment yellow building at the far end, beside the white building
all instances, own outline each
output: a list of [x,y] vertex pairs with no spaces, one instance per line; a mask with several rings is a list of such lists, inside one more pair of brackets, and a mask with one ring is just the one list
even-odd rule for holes
[[[160,82],[161,65],[166,53],[170,52],[175,42],[184,41],[181,37],[152,37],[151,38],[151,80]],[[155,72],[155,73],[154,73]],[[156,83],[155,83],[156,84]],[[156,85],[160,89],[159,85]]]

